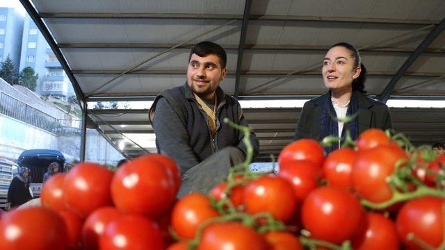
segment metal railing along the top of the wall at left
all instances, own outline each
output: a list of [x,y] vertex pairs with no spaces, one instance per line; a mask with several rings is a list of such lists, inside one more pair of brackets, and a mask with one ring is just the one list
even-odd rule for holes
[[0,113],[51,133],[60,131],[61,124],[58,119],[3,92],[0,92]]

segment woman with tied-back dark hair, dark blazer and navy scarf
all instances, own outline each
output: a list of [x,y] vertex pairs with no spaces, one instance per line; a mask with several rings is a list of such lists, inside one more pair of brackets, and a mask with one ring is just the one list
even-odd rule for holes
[[[327,135],[340,135],[344,139],[346,126],[353,140],[368,128],[392,128],[388,106],[364,95],[366,69],[353,45],[346,42],[334,44],[323,60],[322,74],[329,91],[305,103],[295,140],[323,140]],[[336,120],[355,114],[355,119],[346,126]],[[326,152],[338,149],[339,144],[325,148]]]

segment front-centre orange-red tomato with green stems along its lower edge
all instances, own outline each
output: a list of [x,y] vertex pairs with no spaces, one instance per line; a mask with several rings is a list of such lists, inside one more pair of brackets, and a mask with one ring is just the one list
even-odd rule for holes
[[244,205],[250,214],[268,212],[285,221],[293,214],[297,201],[289,181],[279,176],[262,176],[245,188]]

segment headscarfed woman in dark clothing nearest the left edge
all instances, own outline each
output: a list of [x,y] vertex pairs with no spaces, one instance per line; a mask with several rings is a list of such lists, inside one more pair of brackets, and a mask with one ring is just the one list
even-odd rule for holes
[[10,202],[11,208],[20,206],[33,198],[29,192],[29,184],[31,183],[29,177],[29,168],[20,167],[19,173],[11,181],[8,189],[8,202]]

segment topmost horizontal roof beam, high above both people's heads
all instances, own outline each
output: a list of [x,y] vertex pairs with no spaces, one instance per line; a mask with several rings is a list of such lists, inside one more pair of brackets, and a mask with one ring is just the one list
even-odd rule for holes
[[[42,18],[119,18],[119,19],[238,19],[243,15],[218,15],[200,13],[122,13],[122,12],[41,12]],[[395,19],[372,17],[312,17],[298,15],[250,15],[250,20],[267,21],[309,21],[309,22],[353,22],[373,24],[437,24],[436,20],[428,19]]]

